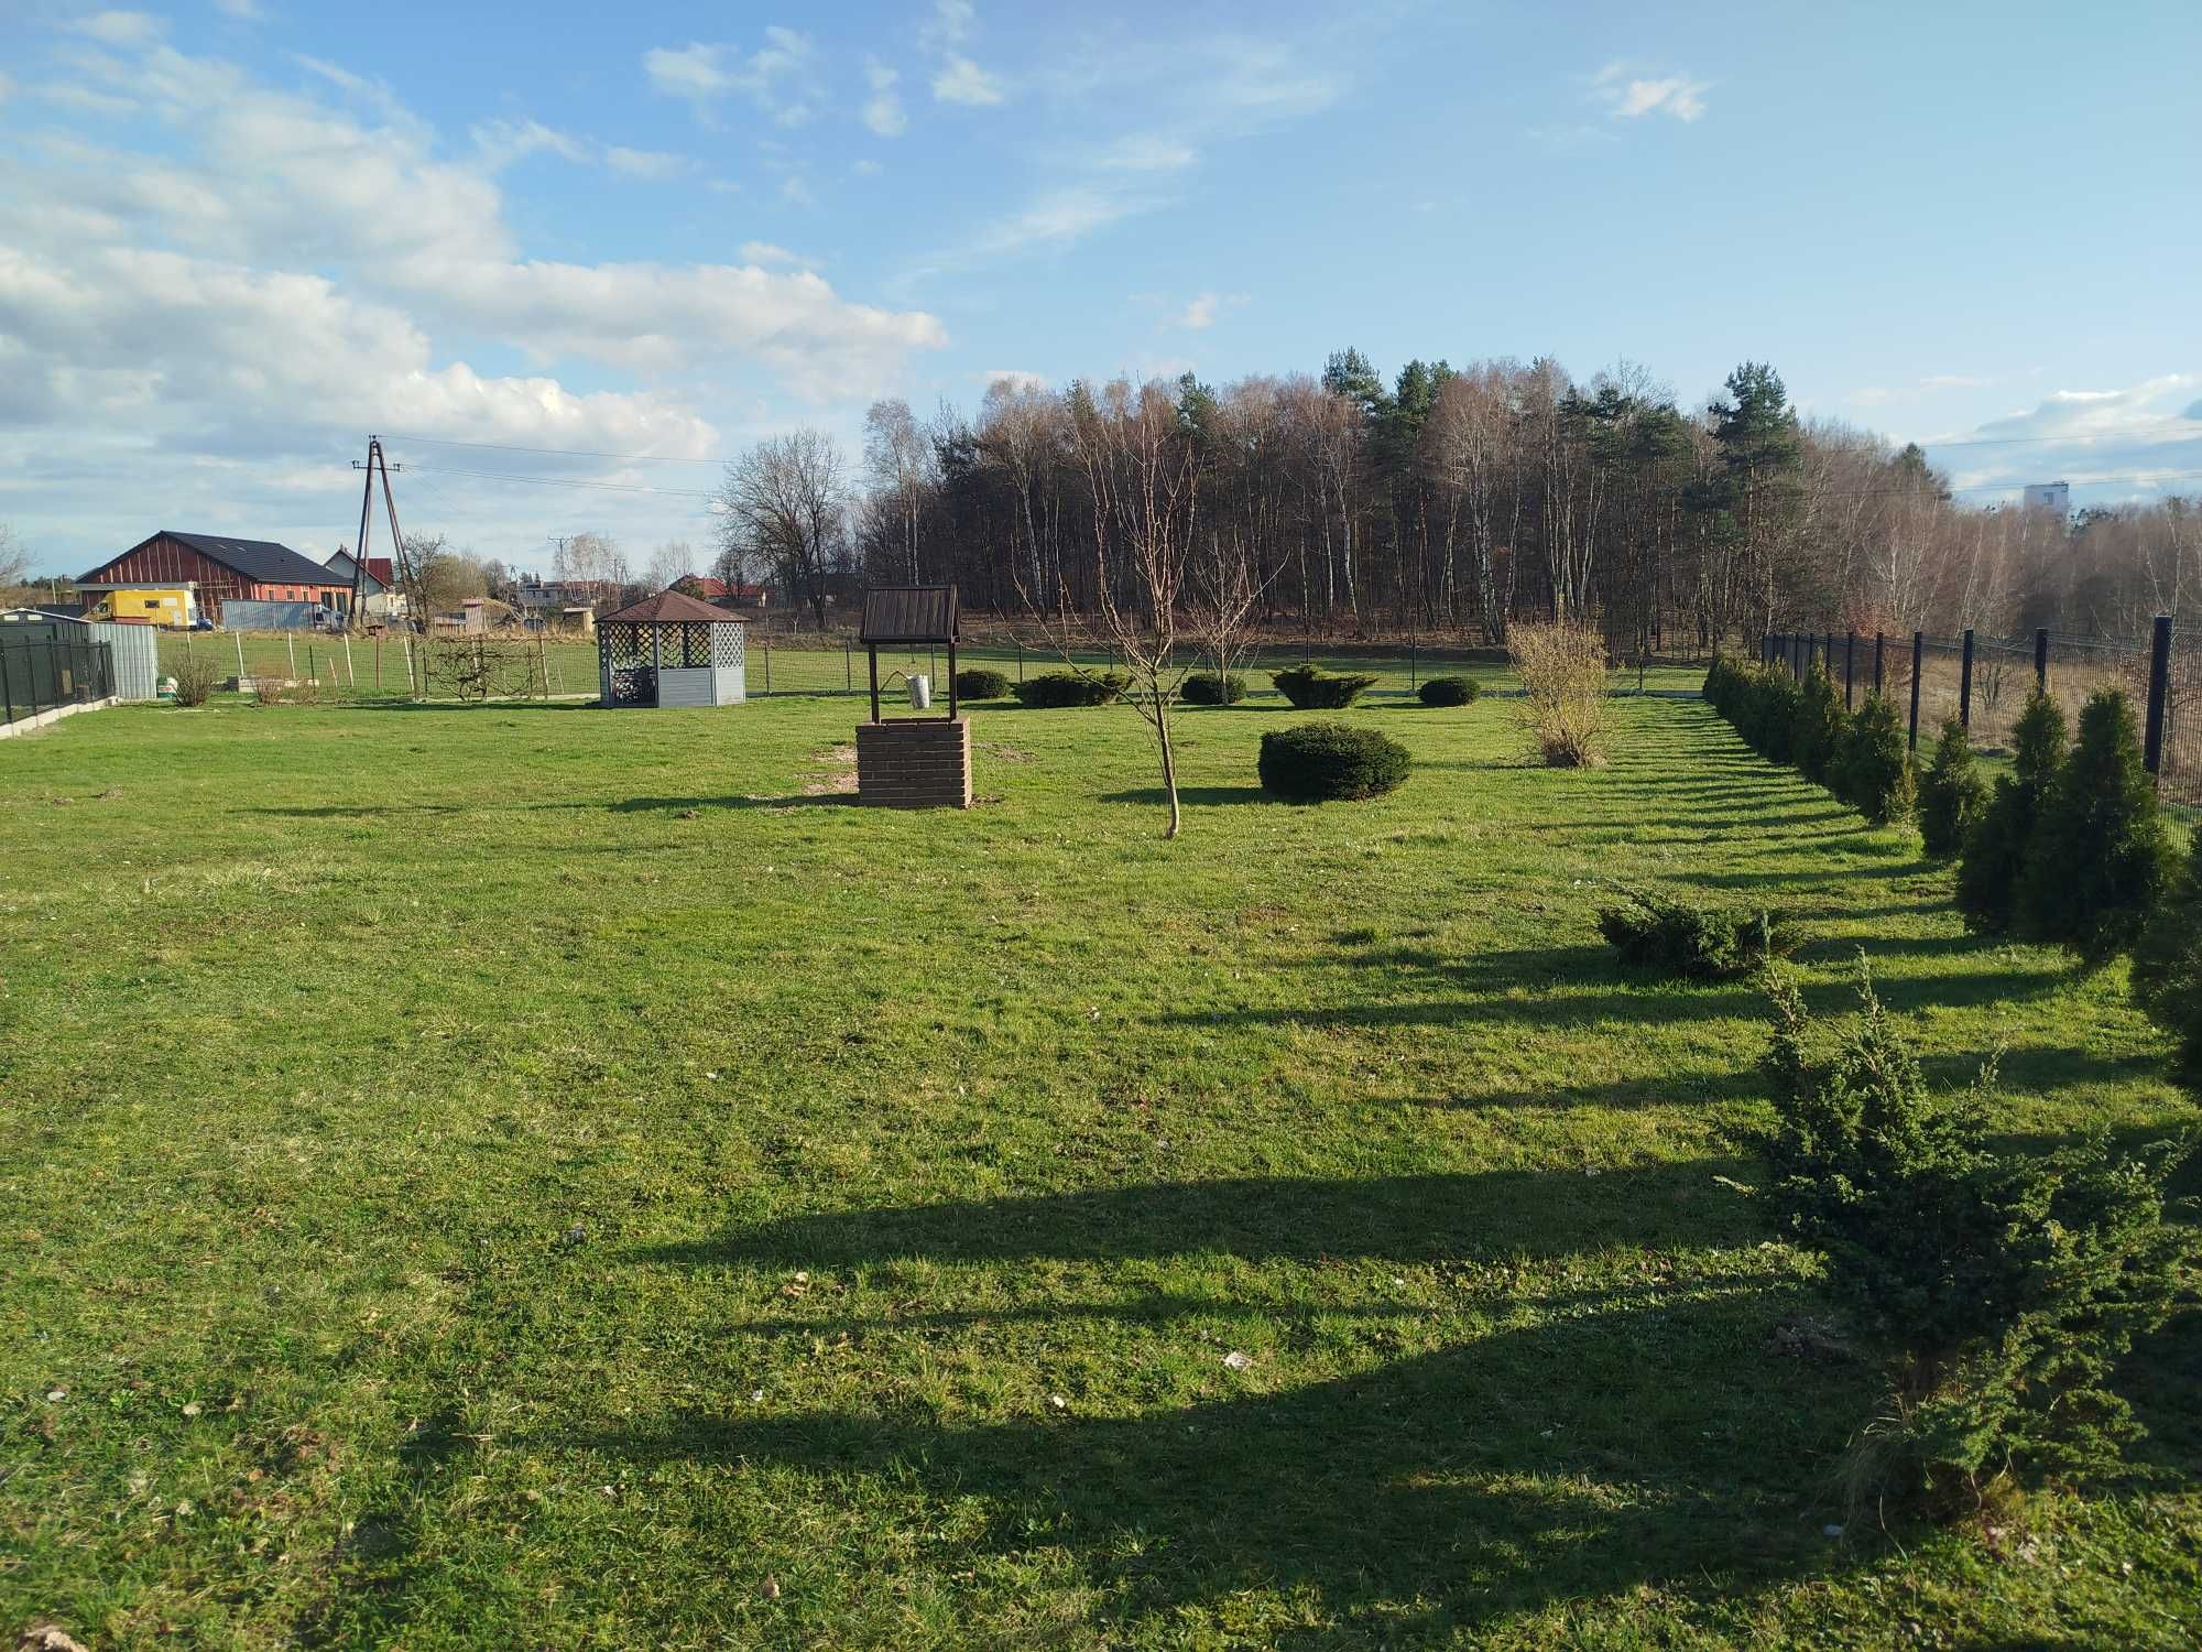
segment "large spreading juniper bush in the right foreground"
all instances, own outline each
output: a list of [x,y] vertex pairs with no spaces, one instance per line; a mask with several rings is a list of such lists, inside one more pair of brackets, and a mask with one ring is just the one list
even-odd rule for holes
[[1852,1500],[1955,1513],[2004,1476],[2112,1469],[2140,1434],[2112,1370],[2198,1251],[2165,1220],[2184,1148],[1997,1152],[1993,1064],[1971,1097],[1936,1104],[1863,958],[1858,976],[1858,1015],[1819,1064],[1795,982],[1770,978],[1777,1123],[1759,1143],[1768,1211],[1885,1352],[1887,1405],[1843,1467]]

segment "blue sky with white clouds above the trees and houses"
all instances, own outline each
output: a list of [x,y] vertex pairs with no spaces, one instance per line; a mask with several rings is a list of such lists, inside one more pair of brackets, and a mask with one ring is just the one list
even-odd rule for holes
[[379,430],[407,529],[700,559],[709,465],[421,438],[854,447],[879,394],[1345,344],[1770,359],[1980,500],[2202,491],[2198,68],[2191,0],[0,0],[0,522],[326,555]]

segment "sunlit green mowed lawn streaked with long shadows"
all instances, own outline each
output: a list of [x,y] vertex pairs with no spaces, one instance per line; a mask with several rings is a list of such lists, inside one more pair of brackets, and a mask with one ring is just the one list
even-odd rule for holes
[[1323,808],[1253,789],[1293,716],[1180,718],[1176,844],[1123,709],[978,707],[923,815],[835,791],[843,698],[0,745],[0,1632],[2191,1645],[2193,1315],[2134,1480],[1854,1520],[1762,998],[1594,912],[1792,905],[2032,1141],[2193,1123],[2123,969],[1693,703],[1601,773],[1356,709],[1418,769]]

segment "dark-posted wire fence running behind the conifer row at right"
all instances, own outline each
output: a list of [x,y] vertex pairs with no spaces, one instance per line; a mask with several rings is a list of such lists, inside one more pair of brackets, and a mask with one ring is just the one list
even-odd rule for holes
[[2063,637],[2037,630],[2030,639],[1887,637],[1861,632],[1770,632],[1762,665],[1803,678],[1825,670],[1845,705],[1885,694],[1905,707],[1911,749],[1920,731],[1929,742],[1955,718],[1980,751],[2002,751],[2039,687],[2070,720],[2099,687],[2123,687],[2143,716],[2143,749],[2158,791],[2178,804],[2202,806],[2202,639],[2176,634],[2160,615],[2138,641]]

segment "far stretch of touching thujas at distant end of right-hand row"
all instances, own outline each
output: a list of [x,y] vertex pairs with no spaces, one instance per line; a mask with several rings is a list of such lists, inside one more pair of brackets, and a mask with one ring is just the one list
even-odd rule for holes
[[1825,672],[1799,683],[1786,670],[1722,656],[1704,674],[1704,703],[1762,758],[1797,764],[1876,826],[1911,817],[1918,775],[1903,720],[1878,694],[1852,714]]

